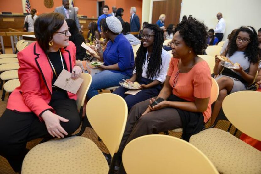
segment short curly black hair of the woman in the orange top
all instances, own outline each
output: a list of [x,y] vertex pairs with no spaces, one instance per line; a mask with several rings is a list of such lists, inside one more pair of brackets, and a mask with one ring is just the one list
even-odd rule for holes
[[203,22],[199,22],[192,15],[183,16],[182,21],[175,28],[174,33],[180,32],[186,45],[191,47],[195,54],[202,54],[207,46],[208,27]]

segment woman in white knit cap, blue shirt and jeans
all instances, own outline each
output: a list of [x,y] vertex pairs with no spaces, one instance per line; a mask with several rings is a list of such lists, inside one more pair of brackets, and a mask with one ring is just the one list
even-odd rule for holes
[[97,90],[119,86],[122,79],[130,79],[134,67],[134,54],[130,42],[119,34],[122,25],[114,16],[101,20],[101,31],[110,41],[103,52],[103,71],[92,76],[92,84],[88,90],[88,100],[98,94]]

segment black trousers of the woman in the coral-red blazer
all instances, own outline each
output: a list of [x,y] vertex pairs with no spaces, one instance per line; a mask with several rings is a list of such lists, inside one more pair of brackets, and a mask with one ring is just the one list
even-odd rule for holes
[[[56,114],[69,120],[60,122],[68,134],[74,133],[80,126],[80,116],[73,99],[58,99],[49,103]],[[28,141],[51,137],[44,122],[40,122],[34,113],[16,112],[6,109],[0,117],[0,155],[5,157],[15,172],[21,171],[22,162],[29,150]]]

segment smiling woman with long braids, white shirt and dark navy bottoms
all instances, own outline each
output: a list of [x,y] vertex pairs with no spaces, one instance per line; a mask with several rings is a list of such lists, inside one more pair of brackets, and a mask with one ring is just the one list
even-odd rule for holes
[[136,103],[157,96],[160,84],[165,81],[170,60],[169,53],[162,49],[164,33],[156,24],[148,24],[142,32],[142,43],[136,54],[135,69],[129,82],[137,81],[142,91],[136,95],[124,94],[128,89],[119,87],[113,93],[123,97],[130,111]]

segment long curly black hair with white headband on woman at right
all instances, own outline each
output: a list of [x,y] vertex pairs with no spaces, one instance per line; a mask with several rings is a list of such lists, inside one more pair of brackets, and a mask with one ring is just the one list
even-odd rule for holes
[[[250,30],[250,28],[252,30]],[[231,41],[229,42],[229,44],[227,46],[227,53],[228,53],[229,57],[232,56],[237,50],[236,37],[239,34],[239,32],[241,32],[241,31],[247,32],[250,37],[250,42],[248,43],[247,48],[244,52],[245,57],[248,57],[248,60],[251,63],[258,63],[259,62],[258,37],[257,37],[256,30],[251,26],[242,26],[233,35]]]

